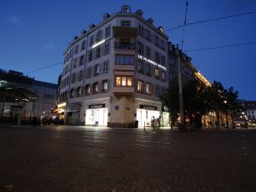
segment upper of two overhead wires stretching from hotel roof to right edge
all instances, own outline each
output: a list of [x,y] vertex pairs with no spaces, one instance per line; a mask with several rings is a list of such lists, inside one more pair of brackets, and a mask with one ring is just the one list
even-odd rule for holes
[[200,21],[195,21],[195,22],[191,22],[191,23],[183,24],[183,25],[180,25],[180,26],[176,26],[176,27],[168,28],[168,29],[166,29],[166,30],[165,30],[165,32],[172,31],[172,30],[175,30],[175,29],[181,28],[181,27],[183,27],[183,26],[191,26],[191,25],[196,25],[196,24],[201,24],[201,23],[211,22],[211,21],[214,21],[214,20],[225,20],[225,19],[230,19],[230,18],[239,17],[239,16],[244,16],[244,15],[251,15],[251,14],[256,14],[256,10],[253,10],[253,11],[250,11],[250,12],[247,12],[247,13],[243,13],[243,14],[236,14],[236,15],[222,16],[222,17],[213,18],[213,19],[210,19],[210,20],[200,20]]

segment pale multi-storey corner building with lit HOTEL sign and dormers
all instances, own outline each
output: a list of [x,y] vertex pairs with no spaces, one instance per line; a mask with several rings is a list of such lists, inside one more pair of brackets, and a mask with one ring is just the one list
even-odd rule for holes
[[163,27],[126,5],[90,24],[64,51],[58,103],[66,124],[129,127],[158,118],[168,88],[167,45]]

